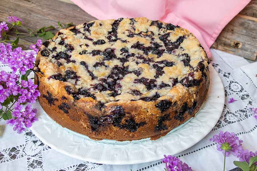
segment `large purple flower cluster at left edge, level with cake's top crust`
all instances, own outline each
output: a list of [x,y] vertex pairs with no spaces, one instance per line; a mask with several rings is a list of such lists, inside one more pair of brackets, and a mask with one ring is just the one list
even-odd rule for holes
[[11,44],[7,43],[4,45],[0,43],[0,62],[2,62],[2,64],[8,64],[14,72],[19,69],[22,75],[24,75],[28,69],[34,67],[35,54],[37,54],[37,52],[34,50],[25,52],[21,50],[20,47],[12,50]]

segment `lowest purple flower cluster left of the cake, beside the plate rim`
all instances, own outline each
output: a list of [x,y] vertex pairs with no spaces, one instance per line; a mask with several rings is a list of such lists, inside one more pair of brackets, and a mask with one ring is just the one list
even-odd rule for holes
[[15,107],[14,110],[12,112],[13,117],[15,117],[16,119],[9,119],[6,121],[6,124],[13,126],[13,131],[17,131],[18,134],[21,134],[22,131],[25,131],[26,129],[24,128],[24,126],[26,128],[30,128],[32,123],[37,121],[38,119],[35,117],[36,113],[37,113],[37,109],[33,109],[31,107],[31,104],[28,104],[25,107],[25,110],[22,111],[23,107],[22,105],[20,105],[19,102],[15,103]]

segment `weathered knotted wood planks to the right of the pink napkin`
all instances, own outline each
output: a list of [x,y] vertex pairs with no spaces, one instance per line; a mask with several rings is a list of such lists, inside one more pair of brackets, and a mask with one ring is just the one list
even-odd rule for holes
[[252,0],[222,30],[212,48],[256,60],[257,0]]

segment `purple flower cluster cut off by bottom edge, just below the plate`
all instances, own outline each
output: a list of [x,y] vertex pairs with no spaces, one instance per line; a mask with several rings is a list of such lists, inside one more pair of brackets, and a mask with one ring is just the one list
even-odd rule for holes
[[192,171],[191,167],[176,156],[164,155],[162,162],[165,163],[167,171]]

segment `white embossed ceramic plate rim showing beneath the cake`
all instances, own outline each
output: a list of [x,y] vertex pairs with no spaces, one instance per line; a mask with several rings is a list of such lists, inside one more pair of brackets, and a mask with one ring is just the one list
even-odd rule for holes
[[202,109],[188,123],[155,141],[115,143],[93,141],[67,130],[52,119],[39,103],[38,121],[31,131],[51,148],[74,158],[102,164],[138,164],[159,160],[163,154],[174,155],[203,139],[215,126],[224,107],[224,87],[218,73],[210,65],[210,89]]

